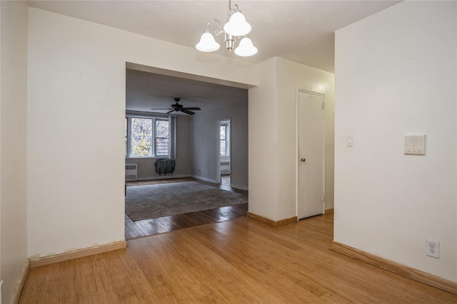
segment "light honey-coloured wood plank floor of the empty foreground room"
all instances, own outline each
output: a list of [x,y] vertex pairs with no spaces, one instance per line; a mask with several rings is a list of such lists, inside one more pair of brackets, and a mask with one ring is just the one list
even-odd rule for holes
[[20,303],[457,303],[329,250],[333,216],[273,228],[242,217],[32,268]]

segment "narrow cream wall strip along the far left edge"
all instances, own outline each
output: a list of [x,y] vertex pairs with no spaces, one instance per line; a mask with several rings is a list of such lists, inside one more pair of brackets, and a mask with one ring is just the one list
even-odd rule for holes
[[26,266],[27,14],[25,1],[1,1],[0,280],[11,303]]

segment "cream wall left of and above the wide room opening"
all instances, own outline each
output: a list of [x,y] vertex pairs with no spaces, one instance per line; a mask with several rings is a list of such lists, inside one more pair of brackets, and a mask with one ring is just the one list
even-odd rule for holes
[[124,239],[126,62],[256,85],[255,65],[212,58],[29,9],[30,256]]

